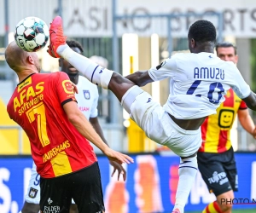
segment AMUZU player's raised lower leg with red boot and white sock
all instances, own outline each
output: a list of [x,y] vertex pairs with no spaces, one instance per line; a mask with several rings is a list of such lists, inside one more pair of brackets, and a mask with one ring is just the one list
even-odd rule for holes
[[[122,101],[122,97],[129,89],[132,90],[132,93],[135,94],[133,96],[135,97],[143,92],[143,89],[140,89],[135,83],[122,77],[119,73],[105,69],[83,55],[74,52],[73,49],[70,49],[66,43],[66,37],[63,34],[62,20],[60,16],[55,17],[52,21],[49,33],[49,55],[56,58],[64,58],[92,83],[95,83],[104,89],[112,90],[119,101]],[[127,107],[125,107],[125,109],[126,108]]]

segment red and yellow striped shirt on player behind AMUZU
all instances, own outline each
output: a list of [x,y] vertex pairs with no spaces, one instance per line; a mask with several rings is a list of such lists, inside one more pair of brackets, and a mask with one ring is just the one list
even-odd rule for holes
[[230,149],[230,130],[240,109],[247,109],[244,101],[230,89],[217,114],[210,115],[201,125],[202,145],[199,152],[223,153]]

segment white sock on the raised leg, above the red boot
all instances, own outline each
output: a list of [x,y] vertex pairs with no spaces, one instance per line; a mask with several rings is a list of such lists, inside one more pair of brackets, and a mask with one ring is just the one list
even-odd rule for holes
[[76,53],[73,49],[69,48],[67,44],[59,46],[57,53],[81,72],[91,83],[108,89],[108,83],[113,75],[113,71],[103,68],[92,60]]

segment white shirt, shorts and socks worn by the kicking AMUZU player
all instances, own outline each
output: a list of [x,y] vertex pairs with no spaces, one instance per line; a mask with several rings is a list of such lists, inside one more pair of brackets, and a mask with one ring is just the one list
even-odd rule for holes
[[[108,89],[111,80],[116,80],[115,86],[125,84],[125,80],[113,71],[96,65],[67,45],[61,45],[58,54],[102,88]],[[165,106],[161,107],[137,85],[125,92],[121,104],[149,138],[183,157],[178,167],[179,180],[173,208],[173,212],[179,210],[183,213],[197,173],[196,152],[201,146],[201,128],[183,130],[169,115],[179,119],[204,118],[216,113],[230,87],[241,99],[250,95],[251,90],[232,62],[220,60],[211,53],[177,54],[151,68],[148,74],[154,81],[171,78],[170,95]]]

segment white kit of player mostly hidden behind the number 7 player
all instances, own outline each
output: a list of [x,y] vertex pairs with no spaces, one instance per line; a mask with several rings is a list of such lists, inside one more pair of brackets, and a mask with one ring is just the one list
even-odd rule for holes
[[[97,105],[99,99],[97,86],[90,83],[90,81],[83,76],[79,76],[77,88],[79,90],[79,94],[76,94],[75,97],[78,101],[80,111],[83,112],[84,116],[88,120],[90,118],[96,118],[98,116]],[[31,177],[25,196],[25,200],[29,204],[39,204],[40,202],[39,180],[40,176],[38,175],[36,164],[33,162]]]

